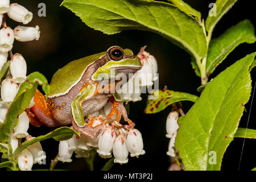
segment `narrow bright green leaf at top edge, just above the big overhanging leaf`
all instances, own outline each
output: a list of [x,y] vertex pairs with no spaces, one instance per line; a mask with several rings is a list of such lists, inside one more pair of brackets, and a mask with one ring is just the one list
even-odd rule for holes
[[187,3],[183,2],[182,0],[167,0],[167,1],[170,1],[171,3],[173,3],[175,6],[177,6],[177,8],[179,8],[185,14],[195,16],[197,21],[201,22],[201,13],[193,9]]

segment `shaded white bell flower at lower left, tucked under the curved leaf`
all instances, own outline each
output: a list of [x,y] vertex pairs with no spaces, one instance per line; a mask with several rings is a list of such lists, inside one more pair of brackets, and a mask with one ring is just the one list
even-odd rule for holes
[[[32,137],[31,135],[28,135],[26,137],[26,140],[34,139],[35,137]],[[31,154],[33,155],[34,164],[39,163],[41,164],[44,159],[46,159],[46,155],[44,155],[44,151],[42,148],[42,145],[40,142],[36,142],[34,144],[31,144],[27,147],[28,150],[30,150]]]

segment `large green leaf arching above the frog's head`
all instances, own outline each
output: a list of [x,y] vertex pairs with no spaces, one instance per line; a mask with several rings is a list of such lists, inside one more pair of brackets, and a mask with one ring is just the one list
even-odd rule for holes
[[197,60],[206,55],[207,43],[203,28],[194,18],[170,3],[142,0],[64,0],[61,5],[79,16],[89,27],[105,34],[133,29],[152,31],[187,49]]

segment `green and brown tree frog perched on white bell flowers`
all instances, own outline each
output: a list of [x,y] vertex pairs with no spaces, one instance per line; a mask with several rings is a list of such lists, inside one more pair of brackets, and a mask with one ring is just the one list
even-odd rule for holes
[[[115,49],[123,53],[118,59],[112,55]],[[115,75],[135,73],[141,69],[141,60],[134,56],[130,49],[122,50],[118,46],[113,46],[106,52],[72,61],[52,77],[51,92],[46,100],[47,104],[51,105],[52,119],[46,119],[40,111],[34,109],[36,117],[49,127],[72,123],[76,131],[90,138],[97,138],[106,121],[102,125],[92,127],[86,125],[84,117],[100,110],[108,102],[109,97],[113,96],[110,92],[98,92],[98,86],[104,85],[100,78],[97,79],[98,76],[105,74],[110,77],[110,69],[115,69]],[[103,90],[106,88],[108,85],[102,87]],[[129,120],[122,103],[118,105],[117,110]]]

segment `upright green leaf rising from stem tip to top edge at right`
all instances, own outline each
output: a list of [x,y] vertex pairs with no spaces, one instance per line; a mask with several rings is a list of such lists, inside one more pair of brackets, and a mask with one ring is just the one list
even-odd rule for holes
[[205,28],[208,31],[208,35],[212,36],[213,28],[216,26],[222,16],[228,12],[228,10],[236,3],[237,0],[217,0],[216,4],[216,16],[209,16],[205,21]]

